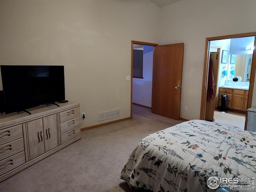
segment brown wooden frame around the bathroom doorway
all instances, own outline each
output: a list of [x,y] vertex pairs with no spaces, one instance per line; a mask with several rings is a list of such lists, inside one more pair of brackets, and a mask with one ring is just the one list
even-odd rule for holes
[[[206,114],[206,94],[207,94],[208,71],[209,71],[210,42],[216,41],[216,40],[227,40],[227,39],[250,37],[250,36],[255,37],[255,35],[256,35],[256,32],[252,32],[252,33],[246,33],[246,34],[236,34],[236,35],[229,35],[229,36],[206,38],[200,119],[205,120],[205,114]],[[255,44],[256,42],[254,41],[254,47],[255,47]],[[251,67],[250,86],[249,86],[250,88],[248,92],[248,102],[247,102],[246,109],[250,108],[252,105],[252,93],[254,88],[254,78],[255,78],[255,69],[256,69],[256,66],[255,66],[256,58],[255,59],[253,58],[255,58],[254,50],[252,51],[252,67]],[[245,130],[246,130],[246,124],[247,124],[246,122],[247,122],[247,113],[246,113],[245,122],[244,122]]]

